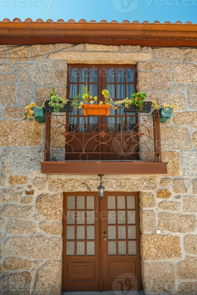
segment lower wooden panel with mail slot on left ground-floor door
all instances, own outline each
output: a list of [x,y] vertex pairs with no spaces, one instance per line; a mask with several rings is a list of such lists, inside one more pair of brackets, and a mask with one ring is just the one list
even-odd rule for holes
[[95,280],[95,261],[68,261],[67,280],[84,281]]

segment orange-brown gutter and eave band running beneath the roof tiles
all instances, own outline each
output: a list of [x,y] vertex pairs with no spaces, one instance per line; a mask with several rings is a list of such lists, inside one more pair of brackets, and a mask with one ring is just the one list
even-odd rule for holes
[[197,24],[0,22],[0,44],[197,46]]

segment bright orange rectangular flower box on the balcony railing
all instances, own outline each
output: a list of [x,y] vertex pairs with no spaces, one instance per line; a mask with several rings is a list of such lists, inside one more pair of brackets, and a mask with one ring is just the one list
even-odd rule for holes
[[109,116],[110,105],[83,104],[84,116]]

